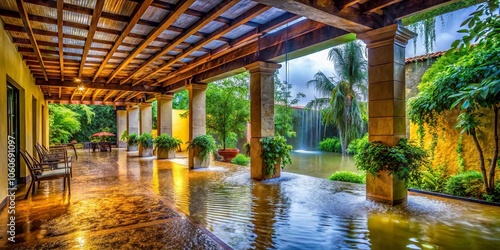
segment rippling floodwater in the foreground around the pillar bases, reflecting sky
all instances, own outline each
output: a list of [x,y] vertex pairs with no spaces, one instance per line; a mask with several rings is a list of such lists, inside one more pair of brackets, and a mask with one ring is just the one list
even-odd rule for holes
[[499,207],[418,194],[390,207],[367,201],[364,185],[287,172],[279,180],[257,182],[250,180],[248,167],[215,163],[190,171],[185,160],[174,161],[141,167],[142,178],[151,171],[153,189],[235,249],[495,249],[500,244]]

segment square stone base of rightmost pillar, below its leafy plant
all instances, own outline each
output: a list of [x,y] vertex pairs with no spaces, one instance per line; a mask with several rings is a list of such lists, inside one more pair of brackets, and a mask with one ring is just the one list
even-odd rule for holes
[[366,174],[366,198],[369,200],[396,205],[406,201],[408,196],[405,183],[389,171],[380,171],[379,176]]

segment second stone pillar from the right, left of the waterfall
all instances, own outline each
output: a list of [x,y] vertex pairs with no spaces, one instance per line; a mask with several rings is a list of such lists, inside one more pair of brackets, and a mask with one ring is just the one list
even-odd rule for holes
[[280,67],[270,62],[255,62],[245,67],[250,72],[251,177],[256,180],[280,176],[278,171],[274,176],[265,174],[260,144],[261,138],[274,136],[274,72]]

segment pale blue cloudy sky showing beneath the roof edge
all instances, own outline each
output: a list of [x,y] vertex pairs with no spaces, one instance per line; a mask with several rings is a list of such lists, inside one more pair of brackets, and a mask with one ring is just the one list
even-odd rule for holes
[[[449,14],[443,15],[443,19],[436,18],[436,43],[434,44],[433,51],[443,51],[450,48],[453,41],[460,37],[456,31],[460,29],[460,24],[467,18],[467,16],[475,10],[475,7],[459,10]],[[415,52],[413,42],[417,43],[417,50]],[[306,105],[309,100],[316,95],[314,89],[306,88],[306,82],[313,79],[316,72],[322,71],[327,76],[333,75],[333,64],[327,60],[328,50],[323,50],[310,54],[308,56],[300,57],[288,61],[288,67],[282,63],[279,72],[281,80],[287,80],[293,85],[292,92],[295,95],[297,92],[302,92],[306,95],[298,105]],[[406,47],[406,57],[413,57],[415,55],[425,54],[423,35],[418,36],[416,39],[410,40]],[[288,68],[288,70],[286,70]],[[288,71],[288,75],[285,73]]]

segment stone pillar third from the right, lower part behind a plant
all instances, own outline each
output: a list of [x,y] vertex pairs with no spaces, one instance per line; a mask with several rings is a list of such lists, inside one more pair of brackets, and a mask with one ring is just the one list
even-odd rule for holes
[[[203,83],[191,83],[187,86],[189,91],[189,141],[200,135],[207,133],[206,123],[206,89],[207,85]],[[194,152],[189,150],[188,158],[189,168],[195,168]]]

